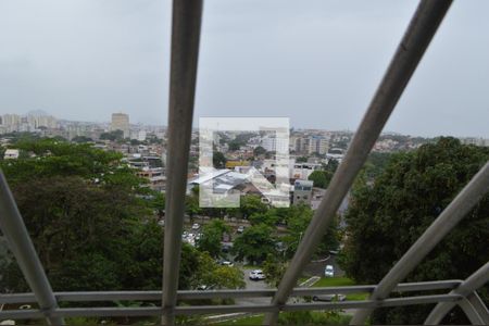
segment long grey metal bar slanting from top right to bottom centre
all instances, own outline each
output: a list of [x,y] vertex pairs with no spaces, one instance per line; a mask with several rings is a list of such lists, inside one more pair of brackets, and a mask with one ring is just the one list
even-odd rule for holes
[[[272,304],[283,305],[287,302],[303,266],[310,261],[356,174],[365,163],[372,147],[416,70],[451,2],[451,0],[421,1],[355,133],[343,162],[335,173],[329,189],[278,286]],[[277,317],[277,312],[266,314],[264,325],[276,324]]]

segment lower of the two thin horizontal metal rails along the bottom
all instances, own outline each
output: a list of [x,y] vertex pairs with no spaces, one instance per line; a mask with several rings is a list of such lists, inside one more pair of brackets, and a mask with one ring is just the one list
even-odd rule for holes
[[[342,301],[342,302],[321,302],[321,303],[293,303],[276,306],[272,304],[256,305],[193,305],[175,306],[175,315],[197,315],[213,313],[233,313],[233,312],[272,312],[272,311],[308,311],[308,310],[339,310],[354,308],[380,308],[380,306],[400,306],[412,304],[426,304],[434,302],[453,302],[463,299],[459,294],[436,294],[393,298],[386,300],[364,300],[364,301]],[[64,308],[53,311],[54,316],[63,317],[101,317],[101,316],[158,316],[163,313],[160,306],[149,308]],[[12,310],[0,312],[0,318],[39,318],[42,313],[39,310]]]

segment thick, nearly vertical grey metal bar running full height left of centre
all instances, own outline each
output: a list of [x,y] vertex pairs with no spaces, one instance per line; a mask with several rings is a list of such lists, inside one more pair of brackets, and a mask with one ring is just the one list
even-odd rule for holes
[[163,256],[163,323],[174,324],[187,166],[192,131],[202,0],[173,1],[168,109],[168,180]]

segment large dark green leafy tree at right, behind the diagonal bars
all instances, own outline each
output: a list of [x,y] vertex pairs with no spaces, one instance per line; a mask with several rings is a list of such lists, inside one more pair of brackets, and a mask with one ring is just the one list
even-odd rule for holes
[[[374,183],[359,178],[346,215],[348,240],[340,263],[347,274],[358,283],[378,283],[488,159],[488,148],[441,138],[393,154]],[[464,279],[489,260],[487,248],[488,195],[404,281]],[[487,289],[480,292],[486,304]],[[421,324],[429,309],[377,310],[372,323]],[[451,322],[464,323],[459,311]]]

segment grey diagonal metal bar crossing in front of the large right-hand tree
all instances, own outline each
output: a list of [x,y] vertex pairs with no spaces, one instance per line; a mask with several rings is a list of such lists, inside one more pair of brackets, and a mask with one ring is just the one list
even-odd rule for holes
[[[414,242],[406,253],[380,280],[372,299],[384,299],[389,296],[396,285],[404,279],[419,262],[444,238],[444,236],[464,218],[477,202],[489,191],[489,162],[471,179],[471,181],[459,192],[452,202],[431,223],[424,234]],[[488,267],[489,268],[489,267]],[[484,269],[484,267],[482,267]],[[477,274],[476,272],[475,274]],[[478,276],[478,274],[477,274]],[[489,273],[487,273],[489,277]],[[468,279],[467,279],[468,281]],[[471,281],[472,284],[473,281]],[[462,287],[462,285],[461,285]],[[469,291],[472,292],[472,291]],[[461,292],[457,292],[461,294]],[[351,323],[360,325],[365,323],[372,310],[359,310]]]

